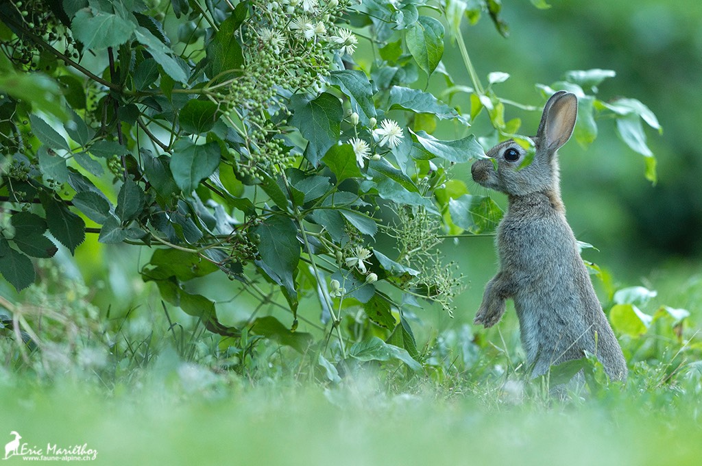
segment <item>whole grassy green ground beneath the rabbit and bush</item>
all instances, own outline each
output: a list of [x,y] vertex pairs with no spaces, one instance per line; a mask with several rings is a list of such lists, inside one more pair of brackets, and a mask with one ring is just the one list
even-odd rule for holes
[[371,361],[333,382],[315,349],[259,342],[225,370],[232,361],[213,356],[209,334],[179,339],[163,316],[142,315],[98,336],[88,290],[44,301],[35,290],[54,344],[25,360],[4,340],[0,444],[12,431],[35,450],[86,444],[110,465],[698,465],[702,278],[670,267],[644,284],[659,293],[642,312],[668,305],[689,317],[623,335],[627,385],[596,383],[565,401],[524,382],[513,315],[488,333],[456,322],[418,339],[422,371]]

